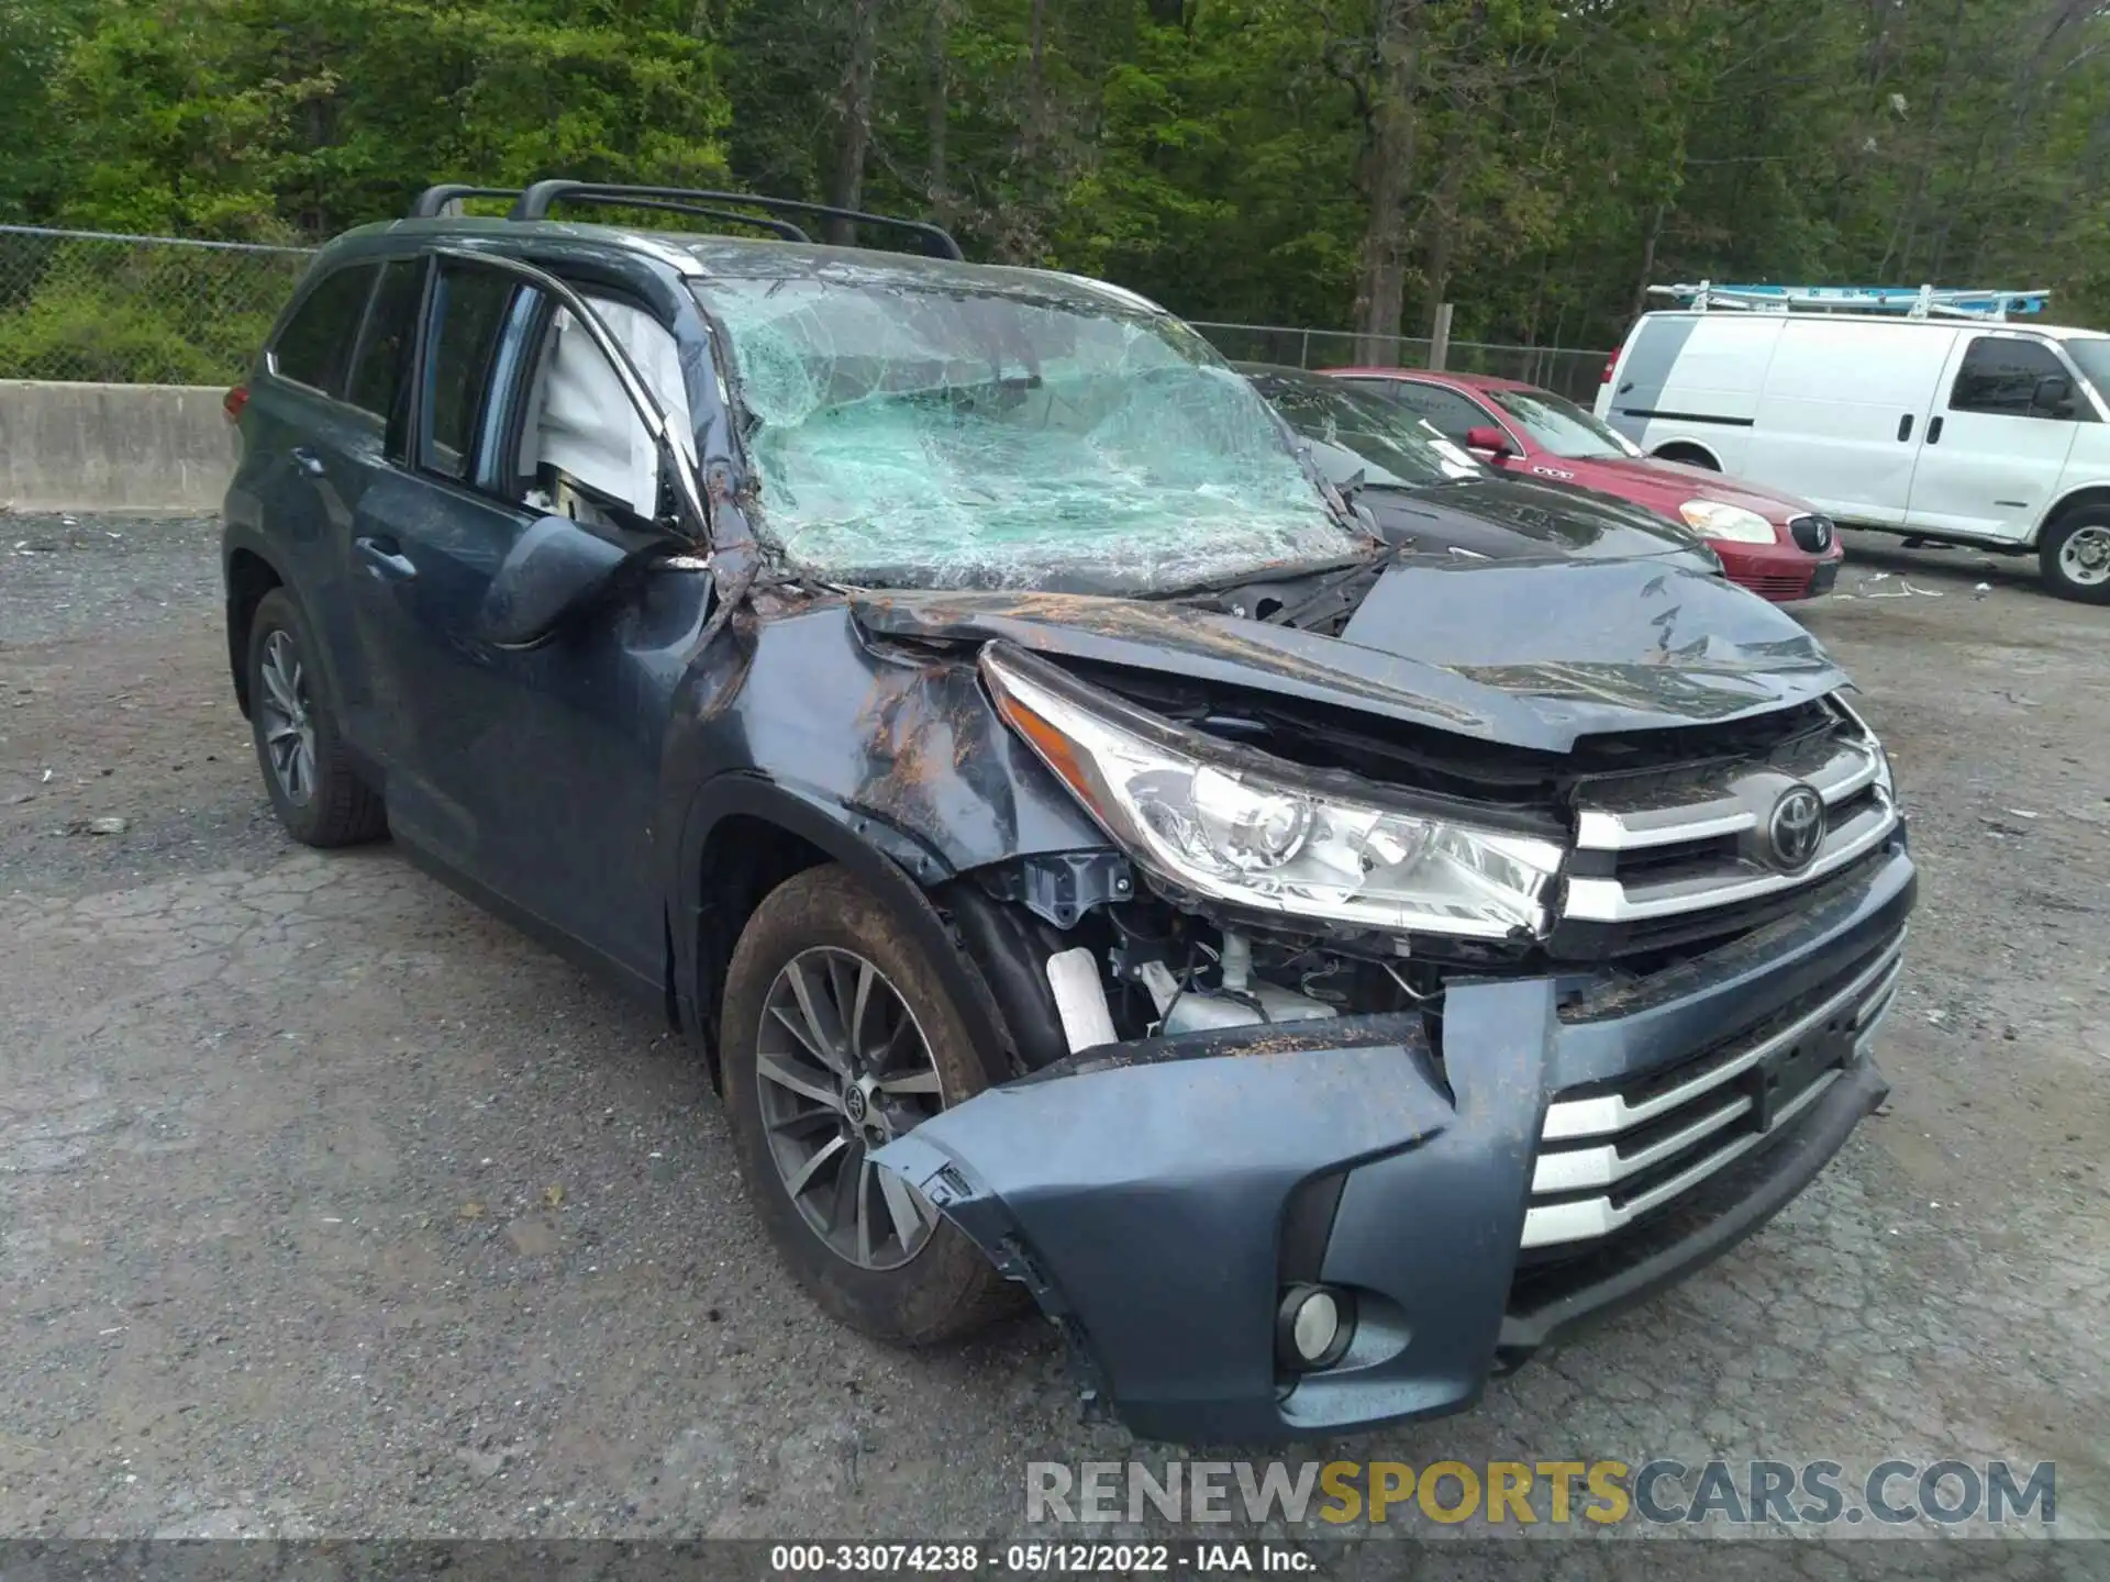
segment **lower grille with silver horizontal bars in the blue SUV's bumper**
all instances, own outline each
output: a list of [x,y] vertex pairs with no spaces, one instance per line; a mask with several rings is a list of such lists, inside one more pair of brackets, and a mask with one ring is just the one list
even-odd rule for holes
[[1905,932],[1756,1027],[1612,1091],[1547,1107],[1523,1249],[1625,1230],[1794,1126],[1891,1008]]

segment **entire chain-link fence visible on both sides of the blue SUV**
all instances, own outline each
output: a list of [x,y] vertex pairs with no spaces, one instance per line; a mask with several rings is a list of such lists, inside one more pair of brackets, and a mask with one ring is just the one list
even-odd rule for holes
[[[0,380],[232,384],[310,255],[306,247],[0,226]],[[1239,363],[1369,361],[1346,329],[1194,327]],[[1428,350],[1426,340],[1399,335],[1378,361],[1426,367]],[[1530,380],[1587,405],[1604,359],[1572,346],[1452,342],[1445,367]]]

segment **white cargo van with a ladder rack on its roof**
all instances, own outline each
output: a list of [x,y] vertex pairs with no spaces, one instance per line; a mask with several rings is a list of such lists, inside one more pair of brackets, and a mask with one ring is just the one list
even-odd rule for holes
[[[1642,314],[1597,390],[1597,416],[1644,451],[1800,494],[1846,525],[2034,548],[2053,591],[2110,603],[2110,335],[1920,316],[1962,295],[1926,289],[1671,291],[1699,306]],[[1709,306],[1724,291],[1753,295]],[[1842,297],[1918,306],[1794,310]]]

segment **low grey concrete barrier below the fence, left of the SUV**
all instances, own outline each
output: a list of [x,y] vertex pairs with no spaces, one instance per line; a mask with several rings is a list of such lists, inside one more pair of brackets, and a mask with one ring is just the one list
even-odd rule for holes
[[219,510],[236,439],[224,390],[0,380],[0,506]]

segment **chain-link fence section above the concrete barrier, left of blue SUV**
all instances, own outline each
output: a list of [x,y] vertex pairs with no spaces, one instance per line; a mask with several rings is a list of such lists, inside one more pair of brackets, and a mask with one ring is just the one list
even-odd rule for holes
[[0,226],[0,380],[232,384],[308,253]]

